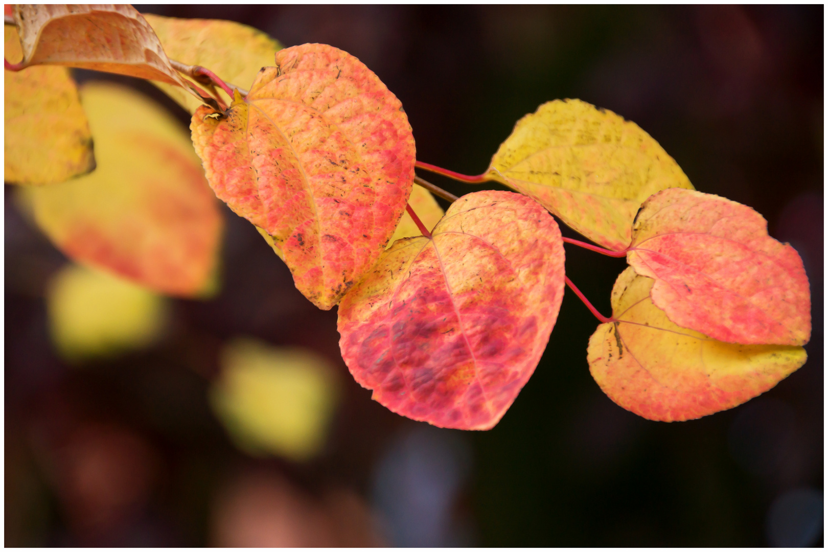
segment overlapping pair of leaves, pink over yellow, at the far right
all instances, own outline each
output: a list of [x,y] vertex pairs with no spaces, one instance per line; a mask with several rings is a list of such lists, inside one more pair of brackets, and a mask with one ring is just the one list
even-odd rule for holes
[[671,189],[642,206],[613,316],[590,338],[595,381],[651,420],[690,420],[768,391],[806,360],[802,259],[749,207]]

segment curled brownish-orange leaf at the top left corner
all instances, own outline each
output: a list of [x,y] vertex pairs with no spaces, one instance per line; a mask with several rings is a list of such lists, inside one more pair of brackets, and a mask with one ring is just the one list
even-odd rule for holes
[[66,65],[126,74],[181,86],[200,98],[173,69],[152,26],[128,4],[15,4],[12,12],[21,68]]

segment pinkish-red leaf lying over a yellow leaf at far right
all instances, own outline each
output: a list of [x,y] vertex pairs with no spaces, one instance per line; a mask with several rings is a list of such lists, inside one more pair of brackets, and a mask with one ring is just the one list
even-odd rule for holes
[[729,343],[804,345],[811,337],[802,259],[746,205],[659,192],[636,218],[627,258],[655,279],[653,303],[680,326]]

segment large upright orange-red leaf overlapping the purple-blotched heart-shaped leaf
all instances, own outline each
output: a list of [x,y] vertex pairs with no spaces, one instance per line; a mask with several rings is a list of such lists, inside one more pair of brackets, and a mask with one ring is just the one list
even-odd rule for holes
[[246,98],[223,116],[199,108],[190,129],[215,194],[270,235],[320,309],[371,269],[411,194],[402,104],[333,46],[280,50]]

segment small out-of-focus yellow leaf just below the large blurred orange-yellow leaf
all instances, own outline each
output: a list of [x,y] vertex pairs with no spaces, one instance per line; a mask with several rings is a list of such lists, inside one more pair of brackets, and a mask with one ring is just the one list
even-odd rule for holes
[[129,281],[69,264],[46,291],[52,341],[65,358],[106,356],[151,344],[166,321],[163,297]]

